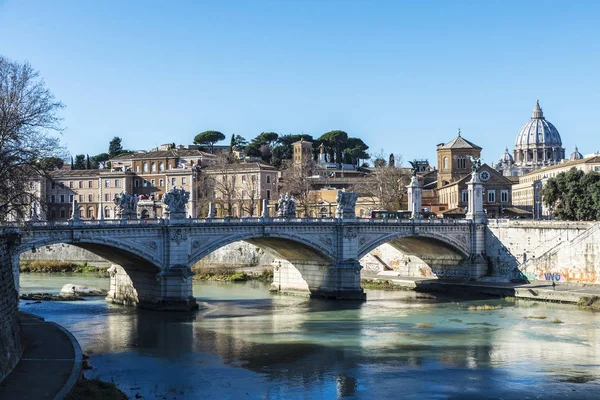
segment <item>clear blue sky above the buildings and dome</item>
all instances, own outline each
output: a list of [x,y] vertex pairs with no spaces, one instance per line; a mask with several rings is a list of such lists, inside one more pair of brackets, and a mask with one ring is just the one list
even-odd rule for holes
[[495,162],[536,98],[569,154],[600,150],[600,2],[0,0],[0,54],[67,106],[73,154],[215,129],[333,129],[429,158],[456,136]]

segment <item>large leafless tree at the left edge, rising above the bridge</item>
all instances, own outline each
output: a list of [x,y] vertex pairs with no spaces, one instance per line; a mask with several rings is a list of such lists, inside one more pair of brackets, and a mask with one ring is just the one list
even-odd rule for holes
[[46,174],[42,160],[64,158],[53,136],[63,107],[29,63],[0,56],[0,220],[24,217],[40,201],[31,182]]

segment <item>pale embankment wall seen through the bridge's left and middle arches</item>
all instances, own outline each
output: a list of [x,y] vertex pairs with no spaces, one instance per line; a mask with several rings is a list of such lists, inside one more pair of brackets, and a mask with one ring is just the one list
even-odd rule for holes
[[[21,255],[21,260],[56,260],[74,263],[87,262],[90,265],[110,267],[111,262],[69,244],[55,244],[28,251]],[[272,268],[273,256],[247,242],[235,242],[224,246],[196,263],[195,268]]]

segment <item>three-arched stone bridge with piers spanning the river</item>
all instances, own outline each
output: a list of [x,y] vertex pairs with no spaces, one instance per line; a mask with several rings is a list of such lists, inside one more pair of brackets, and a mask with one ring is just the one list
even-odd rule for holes
[[17,271],[22,252],[71,244],[113,263],[107,301],[155,309],[196,307],[191,267],[239,240],[276,257],[271,289],[277,292],[364,299],[359,260],[384,243],[418,256],[440,278],[477,278],[487,271],[485,225],[473,220],[76,220],[28,222],[3,230],[16,238],[12,260]]

